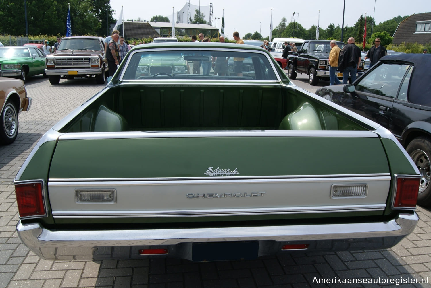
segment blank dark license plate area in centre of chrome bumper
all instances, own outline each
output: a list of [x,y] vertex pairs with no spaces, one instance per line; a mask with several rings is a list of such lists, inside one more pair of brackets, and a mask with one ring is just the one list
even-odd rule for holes
[[193,261],[253,260],[259,242],[207,242],[192,245]]

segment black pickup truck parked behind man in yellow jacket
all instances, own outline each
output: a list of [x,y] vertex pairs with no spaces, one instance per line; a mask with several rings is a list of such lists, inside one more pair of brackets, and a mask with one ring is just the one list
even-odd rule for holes
[[[319,79],[329,80],[329,52],[331,51],[330,40],[305,40],[298,52],[291,52],[287,56],[288,76],[294,80],[297,73],[307,74],[311,85],[316,85]],[[340,48],[343,42],[337,42]],[[364,61],[358,68],[359,76],[364,71]],[[337,71],[337,77],[342,78],[343,73]]]

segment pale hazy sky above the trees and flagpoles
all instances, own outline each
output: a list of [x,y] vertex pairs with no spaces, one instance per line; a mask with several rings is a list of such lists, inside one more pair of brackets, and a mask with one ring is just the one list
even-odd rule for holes
[[[365,13],[372,16],[375,9],[375,21],[380,23],[397,16],[411,15],[413,13],[431,12],[431,6],[425,0],[346,0],[344,12],[344,26],[352,26],[357,19]],[[172,18],[172,7],[175,11],[175,21],[177,10],[181,10],[186,5],[186,0],[110,0],[114,12],[114,18],[118,19],[123,6],[124,19],[145,19],[149,21],[154,15],[167,16]],[[326,29],[329,23],[341,26],[343,22],[344,0],[306,0],[306,1],[261,1],[261,0],[191,0],[197,6],[209,6],[212,3],[214,26],[215,17],[220,17],[217,26],[220,29],[223,9],[225,9],[225,34],[232,38],[234,31],[238,31],[242,37],[244,34],[258,31],[263,37],[268,37],[271,22],[276,27],[282,17],[286,17],[287,22],[293,22],[293,12],[296,12],[295,20],[306,29],[312,25]],[[334,4],[339,3],[338,6]],[[375,6],[375,8],[374,8]],[[209,11],[202,11],[204,15],[209,15]],[[172,21],[172,20],[171,20]]]

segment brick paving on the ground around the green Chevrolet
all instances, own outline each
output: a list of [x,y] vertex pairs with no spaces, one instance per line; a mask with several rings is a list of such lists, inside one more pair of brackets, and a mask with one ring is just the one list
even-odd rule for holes
[[[253,261],[193,263],[187,260],[42,260],[22,245],[12,180],[37,140],[103,85],[94,80],[61,80],[50,85],[41,76],[26,85],[31,111],[19,118],[19,134],[0,146],[0,287],[431,287],[387,284],[386,279],[431,282],[431,211],[418,207],[415,231],[392,249],[303,253]],[[316,284],[319,278],[385,279],[381,284]],[[377,280],[376,280],[377,281]]]

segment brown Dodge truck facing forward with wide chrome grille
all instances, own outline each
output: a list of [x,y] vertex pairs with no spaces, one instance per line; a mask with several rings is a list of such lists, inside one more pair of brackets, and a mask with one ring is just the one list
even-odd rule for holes
[[64,37],[57,51],[45,58],[45,73],[52,85],[60,78],[95,77],[97,84],[106,81],[108,64],[105,62],[104,38],[92,36]]

